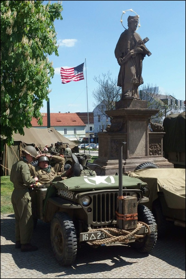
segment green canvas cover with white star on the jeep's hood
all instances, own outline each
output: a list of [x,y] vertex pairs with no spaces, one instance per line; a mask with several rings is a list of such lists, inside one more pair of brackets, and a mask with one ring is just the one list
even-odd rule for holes
[[[128,189],[136,188],[138,183],[141,183],[142,187],[146,186],[146,183],[142,182],[138,178],[123,176],[123,189],[124,187]],[[57,189],[66,189],[70,191],[91,191],[92,189],[118,189],[119,176],[107,175],[71,177],[63,181],[52,182],[52,185],[54,185]]]

